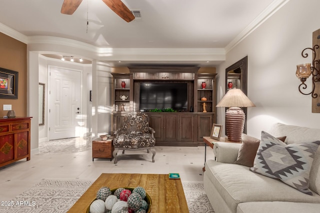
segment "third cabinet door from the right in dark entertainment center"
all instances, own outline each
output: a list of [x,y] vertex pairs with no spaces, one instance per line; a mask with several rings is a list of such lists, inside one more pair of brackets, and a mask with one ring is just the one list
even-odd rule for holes
[[174,114],[163,115],[163,141],[178,140],[178,116]]

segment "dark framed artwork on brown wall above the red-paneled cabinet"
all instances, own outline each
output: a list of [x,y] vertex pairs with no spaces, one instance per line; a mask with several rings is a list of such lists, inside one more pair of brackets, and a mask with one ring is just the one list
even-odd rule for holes
[[0,68],[0,98],[18,98],[18,72]]

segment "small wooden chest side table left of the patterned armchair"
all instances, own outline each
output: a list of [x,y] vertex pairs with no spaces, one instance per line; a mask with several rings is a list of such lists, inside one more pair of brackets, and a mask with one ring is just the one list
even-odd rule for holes
[[109,137],[107,140],[97,138],[92,141],[92,161],[94,158],[109,158],[112,161],[113,138]]

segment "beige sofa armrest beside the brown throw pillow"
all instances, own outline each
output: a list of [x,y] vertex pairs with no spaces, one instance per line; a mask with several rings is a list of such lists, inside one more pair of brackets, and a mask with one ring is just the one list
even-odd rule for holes
[[213,145],[213,154],[217,162],[232,164],[238,157],[241,144],[216,142]]

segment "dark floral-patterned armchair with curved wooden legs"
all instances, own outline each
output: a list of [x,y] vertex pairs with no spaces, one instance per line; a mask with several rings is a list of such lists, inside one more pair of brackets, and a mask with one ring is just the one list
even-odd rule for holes
[[[117,163],[116,154],[119,150],[147,150],[152,152],[152,162],[155,156],[155,131],[149,127],[149,117],[141,112],[130,112],[123,118],[123,127],[117,129],[113,139],[114,164]],[[152,148],[152,149],[151,149]]]

